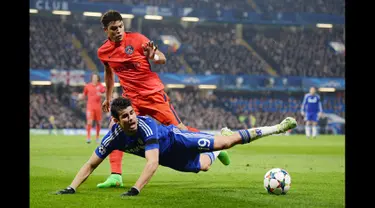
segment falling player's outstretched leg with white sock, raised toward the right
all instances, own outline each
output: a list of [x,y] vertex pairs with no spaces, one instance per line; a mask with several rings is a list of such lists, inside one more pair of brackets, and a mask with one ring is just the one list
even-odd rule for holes
[[214,136],[214,150],[229,149],[237,144],[247,144],[272,134],[285,133],[297,126],[294,118],[287,117],[280,124],[252,129],[244,129],[234,132],[229,136]]

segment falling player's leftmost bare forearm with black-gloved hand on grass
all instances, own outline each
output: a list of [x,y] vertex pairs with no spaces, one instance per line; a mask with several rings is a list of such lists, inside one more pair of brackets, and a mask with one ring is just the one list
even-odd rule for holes
[[96,153],[93,152],[90,159],[78,171],[70,186],[58,191],[56,194],[74,194],[77,188],[90,176],[102,161],[103,159],[99,158]]

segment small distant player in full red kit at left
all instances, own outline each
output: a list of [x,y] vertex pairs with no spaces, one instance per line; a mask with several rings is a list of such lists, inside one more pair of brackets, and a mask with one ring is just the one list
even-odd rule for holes
[[91,142],[91,127],[93,121],[96,124],[96,142],[99,141],[100,123],[102,122],[102,94],[105,92],[105,87],[100,83],[98,74],[91,75],[91,82],[85,85],[83,95],[87,97],[86,106],[86,120],[87,120],[87,143]]

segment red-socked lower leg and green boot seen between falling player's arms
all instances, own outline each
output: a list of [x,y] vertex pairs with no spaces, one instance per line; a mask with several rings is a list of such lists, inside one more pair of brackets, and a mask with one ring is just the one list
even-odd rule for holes
[[[113,119],[109,123],[109,129],[115,124]],[[109,154],[109,163],[111,166],[111,175],[108,176],[107,180],[103,183],[96,185],[98,188],[110,188],[110,187],[124,187],[122,182],[122,156],[123,152],[119,150],[114,150]]]

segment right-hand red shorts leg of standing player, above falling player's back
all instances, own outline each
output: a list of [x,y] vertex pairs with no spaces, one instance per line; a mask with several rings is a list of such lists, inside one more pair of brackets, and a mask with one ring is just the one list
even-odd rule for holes
[[169,97],[164,91],[156,92],[142,99],[140,102],[141,111],[164,125],[173,124],[178,126],[181,123],[177,112],[169,102]]

